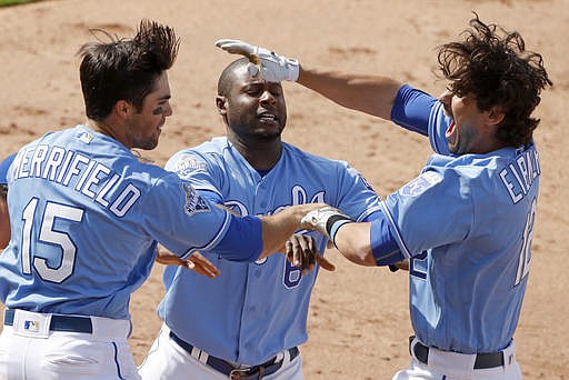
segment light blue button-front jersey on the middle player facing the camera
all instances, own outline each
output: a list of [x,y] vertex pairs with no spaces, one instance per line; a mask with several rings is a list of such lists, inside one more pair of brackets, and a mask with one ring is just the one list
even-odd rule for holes
[[[373,218],[379,208],[378,196],[348,163],[287,143],[264,177],[224,137],[178,152],[166,168],[240,214],[272,214],[290,204],[319,201],[361,221]],[[323,251],[325,238],[311,233]],[[221,271],[213,280],[166,269],[167,294],[159,316],[178,337],[211,356],[246,364],[259,364],[307,340],[317,271],[301,276],[283,254],[254,263],[207,257]]]

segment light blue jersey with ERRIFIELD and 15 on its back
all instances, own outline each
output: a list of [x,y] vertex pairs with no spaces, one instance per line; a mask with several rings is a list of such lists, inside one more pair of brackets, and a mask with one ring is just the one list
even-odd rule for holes
[[127,319],[157,241],[186,259],[221,244],[241,220],[83,126],[23,147],[8,183],[0,297],[13,309]]

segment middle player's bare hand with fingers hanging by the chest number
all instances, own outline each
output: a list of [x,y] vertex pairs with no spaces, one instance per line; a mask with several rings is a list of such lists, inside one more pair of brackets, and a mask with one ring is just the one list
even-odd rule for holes
[[295,267],[302,268],[302,274],[308,274],[319,263],[326,270],[333,271],[336,267],[323,257],[316,248],[315,238],[309,234],[295,233],[284,243],[287,259]]

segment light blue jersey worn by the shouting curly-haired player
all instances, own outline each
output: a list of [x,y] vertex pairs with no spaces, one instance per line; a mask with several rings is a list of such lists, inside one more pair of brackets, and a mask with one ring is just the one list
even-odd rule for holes
[[528,280],[540,174],[536,148],[456,157],[440,102],[403,87],[395,108],[396,122],[428,126],[436,151],[418,178],[381,203],[401,252],[411,258],[416,334],[442,350],[499,351],[513,336]]

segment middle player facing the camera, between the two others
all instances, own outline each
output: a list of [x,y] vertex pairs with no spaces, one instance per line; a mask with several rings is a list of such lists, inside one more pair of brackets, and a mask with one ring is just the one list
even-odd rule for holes
[[[221,73],[216,99],[227,127],[218,137],[176,153],[177,172],[213,203],[241,216],[272,214],[290,204],[326,202],[353,220],[371,220],[379,199],[347,162],[307,153],[281,140],[287,121],[280,82],[250,73],[242,58]],[[327,239],[310,233],[322,252]],[[143,379],[302,379],[298,346],[307,340],[310,293],[318,268],[305,272],[282,254],[232,262],[212,250],[216,280],[164,269],[164,321],[140,368]]]

